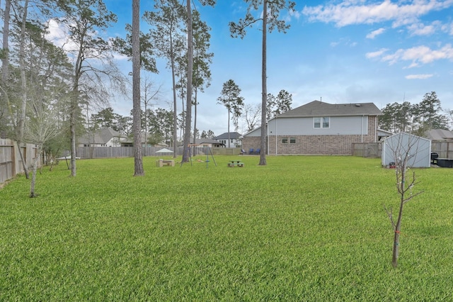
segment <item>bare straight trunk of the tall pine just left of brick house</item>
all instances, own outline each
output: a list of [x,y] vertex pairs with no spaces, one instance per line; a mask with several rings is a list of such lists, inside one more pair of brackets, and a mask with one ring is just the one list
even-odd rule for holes
[[262,84],[262,96],[261,96],[261,145],[260,145],[260,166],[265,166],[266,163],[266,132],[267,132],[267,121],[266,121],[266,101],[268,96],[267,86],[267,31],[268,31],[268,0],[263,1],[263,62],[261,70],[261,84]]

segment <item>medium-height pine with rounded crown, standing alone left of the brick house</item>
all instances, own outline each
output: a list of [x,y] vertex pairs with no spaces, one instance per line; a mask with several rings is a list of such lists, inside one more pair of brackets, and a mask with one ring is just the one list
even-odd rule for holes
[[229,79],[224,83],[221,95],[217,98],[217,104],[222,104],[228,111],[228,147],[230,147],[230,115],[232,114],[234,121],[237,121],[239,116],[241,116],[241,111],[243,108],[243,97],[240,96],[240,94],[241,89],[239,88],[239,86],[232,79]]

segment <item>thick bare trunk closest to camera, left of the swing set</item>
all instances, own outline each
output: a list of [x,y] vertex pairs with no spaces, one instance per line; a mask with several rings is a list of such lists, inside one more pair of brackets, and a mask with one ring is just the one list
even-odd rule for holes
[[143,176],[142,112],[140,108],[140,0],[132,0],[132,100],[134,124],[134,176]]

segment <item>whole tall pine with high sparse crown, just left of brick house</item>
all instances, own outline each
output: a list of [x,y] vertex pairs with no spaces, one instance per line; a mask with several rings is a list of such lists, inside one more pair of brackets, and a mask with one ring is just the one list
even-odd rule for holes
[[[254,23],[258,21],[263,22],[261,31],[263,33],[263,62],[262,62],[262,72],[261,72],[261,143],[260,143],[260,165],[266,164],[266,104],[268,96],[267,88],[267,33],[272,32],[275,28],[278,31],[285,33],[289,28],[289,25],[286,24],[285,20],[279,20],[279,14],[282,9],[289,9],[289,11],[294,10],[295,2],[287,0],[244,0],[248,4],[247,13],[244,18],[239,19],[238,23],[230,22],[229,28],[231,32],[231,37],[241,37],[243,38],[246,35],[246,28],[253,26]],[[251,13],[252,10],[257,11],[262,7],[263,14],[260,17],[256,18]]]

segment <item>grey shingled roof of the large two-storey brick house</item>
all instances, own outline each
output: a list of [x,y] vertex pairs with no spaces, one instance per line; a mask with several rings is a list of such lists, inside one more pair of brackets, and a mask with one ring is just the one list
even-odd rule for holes
[[304,118],[314,116],[382,116],[382,112],[373,103],[328,104],[311,101],[277,118]]

